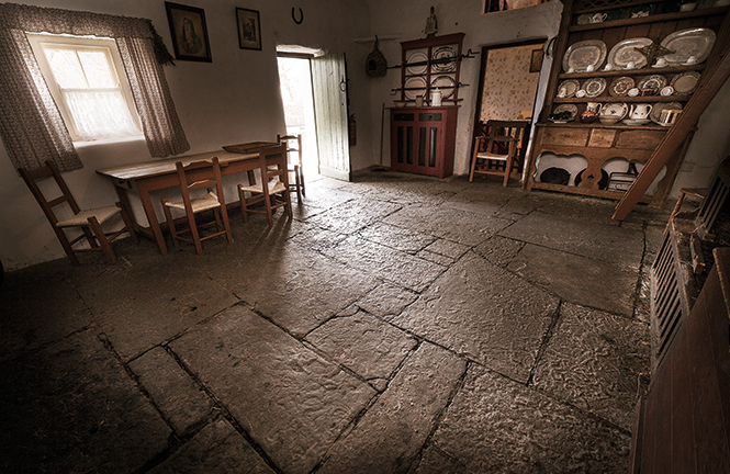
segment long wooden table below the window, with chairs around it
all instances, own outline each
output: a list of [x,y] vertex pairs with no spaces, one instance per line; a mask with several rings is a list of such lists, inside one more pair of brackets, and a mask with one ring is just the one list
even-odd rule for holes
[[[162,229],[160,228],[159,221],[157,219],[157,214],[155,213],[153,201],[149,198],[149,192],[180,185],[180,181],[178,180],[177,171],[175,168],[176,161],[182,161],[183,165],[188,165],[193,161],[210,161],[213,157],[218,157],[218,161],[221,163],[221,173],[223,176],[242,173],[244,171],[252,171],[259,167],[258,151],[234,154],[220,150],[169,158],[158,161],[125,165],[116,168],[100,169],[97,170],[97,172],[112,180],[122,206],[124,206],[127,212],[130,212],[130,215],[134,214],[132,213],[127,190],[131,190],[133,185],[136,184],[137,191],[139,192],[142,206],[145,210],[147,221],[149,222],[149,227],[141,226],[135,219],[135,229],[149,238],[154,238],[154,240],[157,242],[157,246],[159,247],[160,253],[167,253],[167,245],[165,244]],[[274,162],[268,165],[274,165]],[[201,178],[207,174],[213,174],[212,169],[201,170]]]

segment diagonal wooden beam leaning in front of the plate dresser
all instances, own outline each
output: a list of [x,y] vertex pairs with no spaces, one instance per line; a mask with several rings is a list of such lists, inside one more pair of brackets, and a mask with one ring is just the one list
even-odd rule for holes
[[730,13],[726,14],[720,33],[718,34],[718,41],[715,44],[715,47],[721,48],[721,52],[714,55],[717,60],[708,64],[704,72],[705,77],[703,77],[705,80],[701,81],[692,99],[689,99],[684,111],[680,114],[680,119],[672,125],[664,139],[659,144],[649,161],[647,161],[647,166],[643,167],[633,181],[633,184],[631,184],[624,195],[624,199],[619,201],[614,212],[614,219],[624,221],[629,215],[662,168],[674,156],[677,148],[682,146],[687,134],[697,125],[697,121],[699,121],[707,105],[709,105],[717,92],[728,80],[728,77],[730,77],[729,36]]

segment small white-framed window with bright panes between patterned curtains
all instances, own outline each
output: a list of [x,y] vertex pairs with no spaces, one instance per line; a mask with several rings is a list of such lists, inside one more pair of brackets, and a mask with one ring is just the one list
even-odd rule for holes
[[142,137],[114,40],[27,37],[74,142]]

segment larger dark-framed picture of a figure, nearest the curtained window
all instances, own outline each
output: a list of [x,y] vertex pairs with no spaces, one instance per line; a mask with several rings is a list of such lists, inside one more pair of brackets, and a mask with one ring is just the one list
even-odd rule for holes
[[203,9],[165,2],[175,58],[213,63]]

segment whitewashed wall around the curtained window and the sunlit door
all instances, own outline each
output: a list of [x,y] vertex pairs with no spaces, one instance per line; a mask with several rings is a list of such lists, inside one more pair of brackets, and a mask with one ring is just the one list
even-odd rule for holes
[[[141,16],[153,20],[157,32],[172,52],[164,0],[20,0],[25,4],[83,10],[98,13]],[[172,98],[190,142],[188,154],[218,149],[222,145],[272,140],[285,131],[277,44],[299,44],[326,52],[345,52],[348,59],[362,64],[362,52],[352,48],[351,37],[368,34],[369,12],[361,0],[300,0],[304,21],[292,20],[292,3],[270,0],[181,0],[202,8],[209,30],[213,63],[176,61],[165,67]],[[258,10],[262,50],[240,49],[235,8]],[[299,10],[297,10],[299,13]],[[362,56],[362,57],[360,57]],[[351,68],[351,111],[370,113],[370,88],[364,71]],[[367,122],[367,121],[364,121]],[[361,143],[371,142],[360,128]],[[371,157],[352,148],[355,169],[372,163]],[[116,200],[109,180],[94,170],[153,160],[143,140],[96,144],[78,147],[85,167],[64,173],[82,207],[110,205]],[[226,199],[236,201],[235,183],[228,180]],[[133,198],[134,201],[134,198]],[[158,200],[156,200],[158,201]],[[5,270],[65,257],[41,207],[13,169],[0,146],[0,259]],[[141,207],[135,208],[144,222]],[[161,214],[160,214],[161,215]]]

